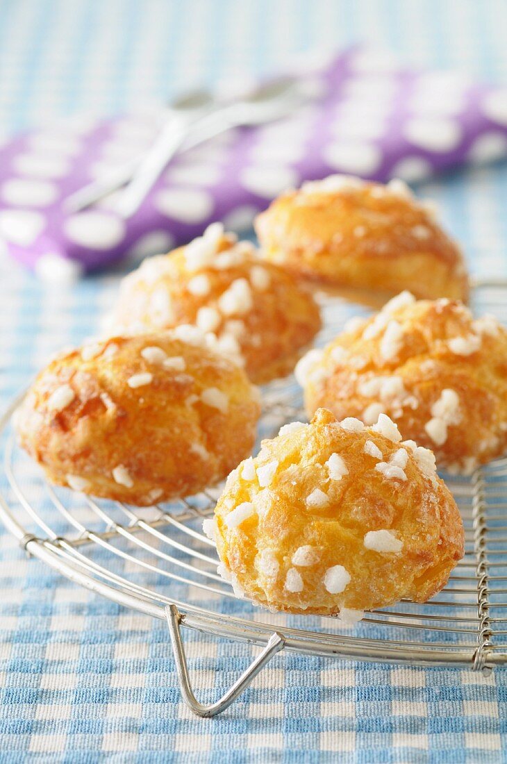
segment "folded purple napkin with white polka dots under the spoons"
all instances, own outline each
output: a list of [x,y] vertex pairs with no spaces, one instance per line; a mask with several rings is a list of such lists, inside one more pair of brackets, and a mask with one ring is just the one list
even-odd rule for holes
[[290,118],[229,131],[170,163],[137,213],[115,195],[67,214],[63,199],[146,150],[163,109],[73,119],[0,149],[0,237],[41,274],[167,251],[221,220],[247,228],[283,189],[330,173],[415,181],[507,155],[507,91],[458,73],[400,68],[354,47],[302,73],[314,98]]

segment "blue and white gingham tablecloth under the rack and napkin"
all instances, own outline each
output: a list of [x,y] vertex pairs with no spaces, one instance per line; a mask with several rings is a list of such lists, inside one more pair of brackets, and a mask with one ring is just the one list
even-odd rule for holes
[[[507,83],[503,2],[0,2],[0,128],[112,113],[198,82],[248,79],[293,53],[367,37],[410,63]],[[507,275],[507,168],[425,184],[476,274]],[[117,274],[43,287],[0,258],[2,405],[92,334]],[[27,559],[0,531],[0,762],[507,761],[507,672],[276,656],[221,717],[182,704],[166,626]],[[211,702],[257,649],[185,634]]]

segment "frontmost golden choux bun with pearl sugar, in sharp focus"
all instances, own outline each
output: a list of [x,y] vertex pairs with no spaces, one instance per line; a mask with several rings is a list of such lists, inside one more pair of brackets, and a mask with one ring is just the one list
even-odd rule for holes
[[319,409],[292,422],[232,472],[205,533],[237,594],[292,613],[363,610],[402,597],[425,602],[463,556],[463,523],[434,456]]

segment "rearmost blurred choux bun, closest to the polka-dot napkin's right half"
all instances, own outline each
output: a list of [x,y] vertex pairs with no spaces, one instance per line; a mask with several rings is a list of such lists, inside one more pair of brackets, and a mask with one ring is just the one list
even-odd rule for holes
[[468,299],[460,249],[401,180],[303,183],[275,199],[255,228],[266,261],[328,286]]

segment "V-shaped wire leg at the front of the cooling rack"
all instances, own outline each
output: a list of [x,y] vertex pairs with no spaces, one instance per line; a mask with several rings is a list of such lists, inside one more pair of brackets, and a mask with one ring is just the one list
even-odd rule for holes
[[241,677],[234,682],[234,685],[215,703],[205,706],[199,703],[190,685],[189,669],[186,662],[185,647],[183,646],[181,630],[181,614],[176,605],[166,607],[166,619],[169,626],[171,644],[173,646],[174,659],[176,661],[176,671],[178,672],[179,688],[183,700],[189,708],[200,717],[213,717],[225,711],[233,703],[238,695],[250,685],[250,682],[257,676],[263,666],[270,660],[276,652],[279,652],[285,646],[285,639],[277,632],[270,636],[266,647],[257,656],[254,662],[250,663],[247,670],[241,674]]

